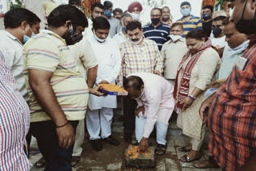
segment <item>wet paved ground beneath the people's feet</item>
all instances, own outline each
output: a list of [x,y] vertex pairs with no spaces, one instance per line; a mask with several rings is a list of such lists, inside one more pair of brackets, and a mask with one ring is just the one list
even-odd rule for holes
[[[117,170],[117,171],[221,171],[221,169],[195,169],[192,163],[182,163],[178,158],[186,153],[181,153],[178,148],[189,143],[189,138],[182,135],[181,130],[178,129],[174,123],[170,124],[167,139],[167,153],[162,157],[155,157],[154,169],[135,169],[126,168],[125,166],[125,150],[128,143],[123,141],[122,122],[118,121],[119,114],[115,115],[113,124],[113,136],[121,142],[119,146],[109,145],[103,142],[103,150],[96,152],[90,146],[90,141],[86,139],[83,144],[82,158],[74,171],[103,171],[103,170]],[[155,146],[154,138],[150,138],[150,145]],[[202,158],[207,158],[206,145],[202,148]],[[34,164],[41,157],[41,154],[30,157],[30,161]],[[31,171],[42,171],[43,169],[36,169],[33,166]]]

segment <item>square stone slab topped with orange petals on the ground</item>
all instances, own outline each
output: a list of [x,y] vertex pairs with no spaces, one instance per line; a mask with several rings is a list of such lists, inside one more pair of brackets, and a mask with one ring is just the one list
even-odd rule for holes
[[[125,165],[130,168],[153,168],[154,167],[154,147],[149,147],[146,151],[147,155],[136,153],[138,146],[129,145],[125,153]],[[130,153],[131,151],[135,153]]]

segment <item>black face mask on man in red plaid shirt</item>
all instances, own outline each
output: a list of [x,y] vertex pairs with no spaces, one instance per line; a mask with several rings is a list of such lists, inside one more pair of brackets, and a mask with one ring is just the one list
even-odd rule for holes
[[[248,1],[246,1],[247,4]],[[256,34],[256,11],[254,14],[254,19],[245,20],[243,19],[243,14],[245,13],[246,5],[243,7],[242,10],[242,18],[235,24],[236,29],[246,35]]]

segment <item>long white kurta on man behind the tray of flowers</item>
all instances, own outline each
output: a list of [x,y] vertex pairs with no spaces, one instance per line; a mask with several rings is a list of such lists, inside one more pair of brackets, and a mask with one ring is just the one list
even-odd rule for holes
[[[98,58],[98,72],[96,85],[103,80],[110,84],[115,84],[116,78],[121,70],[121,54],[116,42],[111,38],[107,38],[106,42],[100,43],[93,36],[89,39],[96,58]],[[90,94],[89,108],[102,109],[117,108],[116,96],[97,97]]]

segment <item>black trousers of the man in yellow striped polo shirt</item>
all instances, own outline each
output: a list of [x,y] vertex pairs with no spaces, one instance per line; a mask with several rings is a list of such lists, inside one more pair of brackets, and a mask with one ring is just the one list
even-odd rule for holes
[[[70,121],[74,131],[78,121]],[[72,171],[70,165],[74,145],[69,149],[58,146],[58,135],[53,121],[38,121],[30,123],[30,130],[37,138],[38,148],[46,159],[45,171]]]

